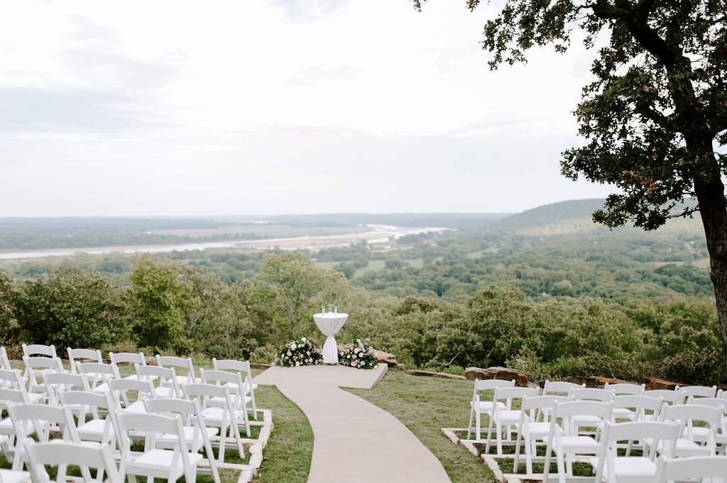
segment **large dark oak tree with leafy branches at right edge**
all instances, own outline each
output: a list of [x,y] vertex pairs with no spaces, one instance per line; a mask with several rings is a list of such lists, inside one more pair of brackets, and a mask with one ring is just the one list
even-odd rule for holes
[[506,0],[483,49],[493,69],[536,45],[565,52],[571,36],[598,49],[575,110],[585,145],[563,152],[561,171],[619,188],[593,214],[609,227],[699,211],[727,352],[726,21],[727,0]]

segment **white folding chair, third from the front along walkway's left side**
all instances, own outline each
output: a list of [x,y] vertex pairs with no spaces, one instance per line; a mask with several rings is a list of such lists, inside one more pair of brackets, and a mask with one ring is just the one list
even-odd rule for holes
[[[220,463],[225,461],[225,448],[228,438],[234,439],[240,458],[245,458],[245,452],[240,437],[238,421],[243,418],[244,411],[236,410],[230,396],[230,390],[225,386],[214,384],[185,384],[182,391],[190,399],[199,399],[202,418],[206,426],[220,428],[220,450],[217,459]],[[210,404],[211,399],[217,402],[225,401],[223,406]]]

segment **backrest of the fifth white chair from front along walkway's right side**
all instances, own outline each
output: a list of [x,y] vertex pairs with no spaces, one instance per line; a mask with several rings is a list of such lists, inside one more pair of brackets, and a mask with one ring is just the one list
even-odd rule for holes
[[[629,423],[612,424],[608,421],[604,423],[603,435],[601,437],[601,455],[598,458],[598,466],[596,467],[596,479],[600,482],[603,475],[604,466],[608,468],[609,481],[616,482],[616,465],[615,459],[617,455],[617,443],[619,441],[635,441],[648,439],[651,441],[651,449],[643,455],[644,458],[654,460],[656,456],[656,447],[659,446],[669,455],[674,454],[677,440],[681,428],[675,423],[660,423],[655,421],[639,421]],[[647,476],[647,475],[644,475]]]

